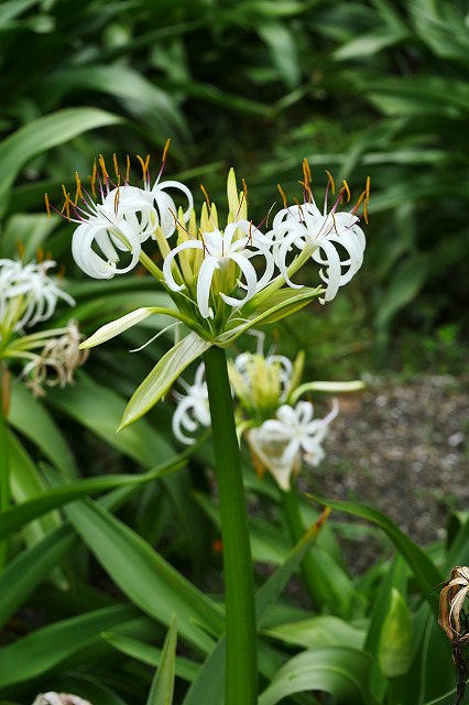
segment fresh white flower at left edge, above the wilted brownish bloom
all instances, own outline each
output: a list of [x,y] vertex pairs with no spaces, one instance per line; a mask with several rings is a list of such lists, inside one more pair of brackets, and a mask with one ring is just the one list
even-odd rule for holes
[[62,299],[75,306],[75,300],[48,275],[53,260],[23,264],[20,260],[0,260],[0,339],[53,316]]

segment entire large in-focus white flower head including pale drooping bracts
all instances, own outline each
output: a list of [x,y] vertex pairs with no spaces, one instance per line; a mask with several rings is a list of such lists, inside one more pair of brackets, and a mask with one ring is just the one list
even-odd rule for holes
[[[149,158],[139,158],[142,183],[135,186],[130,184],[129,161],[123,172],[113,158],[116,176],[111,180],[100,156],[89,191],[78,175],[74,196],[64,187],[61,215],[77,226],[72,250],[78,267],[90,276],[110,279],[140,262],[174,302],[174,307],[137,308],[102,326],[81,347],[105,343],[153,314],[173,316],[190,330],[135,391],[121,427],[146,413],[210,346],[228,347],[250,328],[280,321],[314,299],[323,303],[334,299],[360,269],[366,247],[358,212],[361,209],[367,220],[369,181],[352,208],[348,208],[347,182],[329,206],[335,183],[328,174],[320,210],[305,160],[303,203],[288,206],[280,189],[283,208],[273,214],[272,227],[262,232],[248,215],[247,186],[243,182],[238,191],[233,170],[228,174],[226,217],[221,218],[203,188],[205,203],[197,219],[188,187],[177,181],[162,181],[167,145],[154,183]],[[183,207],[176,205],[177,194],[183,196]],[[51,213],[47,197],[46,205]],[[143,246],[149,247],[149,253]],[[163,261],[161,268],[155,263],[155,250]],[[313,286],[295,283],[294,275],[310,260],[319,264],[317,281]]]

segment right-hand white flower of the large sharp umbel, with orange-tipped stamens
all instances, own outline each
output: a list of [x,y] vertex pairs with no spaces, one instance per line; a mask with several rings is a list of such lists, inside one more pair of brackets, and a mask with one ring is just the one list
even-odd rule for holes
[[[343,187],[335,205],[328,212],[327,198],[329,187],[335,189],[332,177],[329,174],[329,183],[326,192],[324,212],[316,206],[310,189],[309,166],[303,164],[305,203],[290,208],[283,208],[276,214],[272,224],[272,237],[276,240],[274,247],[275,261],[288,286],[301,289],[301,284],[294,284],[288,276],[286,259],[292,247],[298,250],[307,249],[314,261],[321,265],[319,276],[326,284],[326,292],[320,303],[331,301],[340,286],[347,284],[358,272],[363,263],[366,237],[359,227],[359,217],[356,215],[358,206],[363,202],[363,213],[367,219],[369,200],[369,181],[367,188],[360,196],[356,207],[351,212],[338,212],[342,198],[350,197],[348,184]],[[341,257],[345,251],[347,256]]]

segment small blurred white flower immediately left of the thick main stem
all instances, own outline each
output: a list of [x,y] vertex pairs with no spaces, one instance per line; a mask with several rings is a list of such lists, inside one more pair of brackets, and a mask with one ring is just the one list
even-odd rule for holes
[[210,409],[208,405],[208,389],[204,381],[205,367],[200,364],[197,368],[194,384],[189,386],[179,380],[186,390],[186,394],[175,392],[177,399],[176,411],[173,414],[173,433],[179,443],[192,445],[194,438],[184,434],[184,431],[194,433],[198,425],[208,429],[211,425]]

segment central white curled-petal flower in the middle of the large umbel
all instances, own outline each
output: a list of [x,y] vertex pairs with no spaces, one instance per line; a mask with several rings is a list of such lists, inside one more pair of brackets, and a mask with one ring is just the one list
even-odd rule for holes
[[[237,236],[239,230],[244,234],[244,237]],[[164,260],[163,275],[168,289],[175,292],[183,291],[185,284],[177,284],[173,276],[173,260],[184,250],[201,250],[204,259],[197,276],[197,305],[203,318],[212,318],[214,311],[209,303],[210,291],[214,297],[218,293],[229,306],[240,307],[271,281],[274,271],[273,256],[269,250],[271,245],[272,242],[248,220],[230,223],[225,231],[215,229],[211,232],[203,232],[200,240],[186,240],[174,248]],[[249,261],[257,254],[261,254],[265,259],[265,271],[259,280],[254,267]],[[236,265],[234,268],[232,263]],[[216,274],[217,284],[212,291]],[[246,283],[240,282],[241,275]],[[237,286],[246,290],[246,294],[241,299],[230,295]]]

